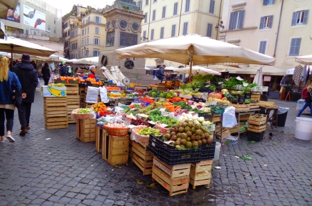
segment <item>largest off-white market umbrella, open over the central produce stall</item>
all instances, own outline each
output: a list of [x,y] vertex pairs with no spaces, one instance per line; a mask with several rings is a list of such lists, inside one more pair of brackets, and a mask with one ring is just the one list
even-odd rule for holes
[[275,58],[223,41],[184,35],[116,49],[117,59],[126,57],[159,58],[192,66],[213,63],[245,63],[271,65]]

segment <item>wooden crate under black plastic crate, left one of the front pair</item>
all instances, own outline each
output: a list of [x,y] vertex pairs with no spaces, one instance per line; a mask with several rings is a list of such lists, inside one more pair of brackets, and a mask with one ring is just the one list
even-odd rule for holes
[[154,157],[152,178],[169,191],[170,196],[187,193],[191,163],[169,167]]

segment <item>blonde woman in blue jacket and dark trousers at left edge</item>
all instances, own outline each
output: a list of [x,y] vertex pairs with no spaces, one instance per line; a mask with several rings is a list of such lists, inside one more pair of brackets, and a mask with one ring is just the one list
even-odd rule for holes
[[[15,142],[11,132],[13,129],[13,118],[15,105],[12,100],[12,85],[21,88],[19,79],[15,73],[9,71],[8,57],[0,56],[0,143],[6,141]],[[6,120],[6,138],[4,136],[4,122]]]

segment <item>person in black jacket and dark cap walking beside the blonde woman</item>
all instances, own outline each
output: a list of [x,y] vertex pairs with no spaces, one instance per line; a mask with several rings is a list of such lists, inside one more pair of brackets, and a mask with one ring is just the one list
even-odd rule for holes
[[19,135],[25,135],[31,129],[29,126],[31,103],[35,100],[35,89],[38,84],[38,73],[29,62],[31,62],[31,57],[28,54],[23,54],[21,63],[16,64],[12,68],[12,72],[19,77],[23,93],[23,102],[17,108],[19,111],[19,123],[21,124]]

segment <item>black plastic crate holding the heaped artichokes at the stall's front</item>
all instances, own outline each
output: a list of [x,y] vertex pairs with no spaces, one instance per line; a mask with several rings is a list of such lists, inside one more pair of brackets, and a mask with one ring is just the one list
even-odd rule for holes
[[191,162],[200,162],[201,148],[179,150],[174,146],[166,144],[154,135],[150,135],[148,142],[148,151],[159,158],[168,166],[179,165]]

